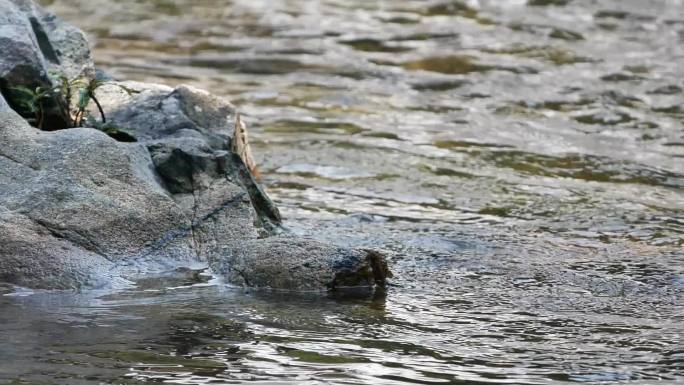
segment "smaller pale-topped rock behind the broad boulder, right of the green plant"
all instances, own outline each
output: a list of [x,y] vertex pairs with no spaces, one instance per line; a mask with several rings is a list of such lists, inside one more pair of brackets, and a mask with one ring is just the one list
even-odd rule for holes
[[[217,181],[230,170],[258,214],[257,225],[266,231],[262,235],[277,230],[280,213],[247,167],[253,160],[233,153],[237,111],[232,104],[186,85],[112,81],[99,87],[96,95],[107,120],[105,130],[127,132],[144,144],[177,202],[217,207],[224,196],[221,191],[208,201],[207,194],[198,199],[196,192],[217,189]],[[90,113],[93,125],[102,124],[94,106]]]

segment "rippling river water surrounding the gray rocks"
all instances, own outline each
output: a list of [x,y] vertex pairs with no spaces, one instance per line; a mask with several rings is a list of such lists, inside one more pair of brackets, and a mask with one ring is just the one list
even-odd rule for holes
[[287,226],[396,277],[11,293],[0,383],[684,382],[684,1],[43,3],[232,100]]

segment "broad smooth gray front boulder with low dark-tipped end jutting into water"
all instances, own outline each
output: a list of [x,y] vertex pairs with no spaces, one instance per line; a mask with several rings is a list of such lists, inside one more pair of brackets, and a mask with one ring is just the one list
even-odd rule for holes
[[267,237],[278,231],[275,206],[239,156],[209,142],[196,134],[121,143],[92,128],[40,131],[3,100],[0,281],[99,287],[178,266],[287,290],[384,281],[374,253]]

